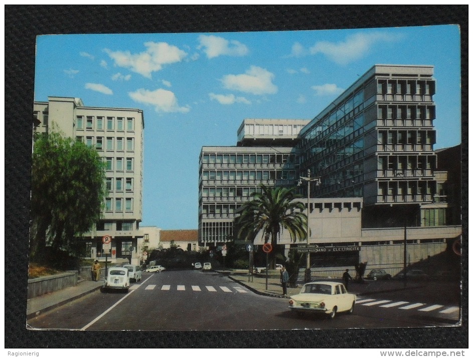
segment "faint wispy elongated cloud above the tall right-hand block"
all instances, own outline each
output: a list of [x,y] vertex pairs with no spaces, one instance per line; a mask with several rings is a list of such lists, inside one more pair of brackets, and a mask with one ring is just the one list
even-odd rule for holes
[[332,43],[320,41],[310,48],[312,55],[322,53],[338,64],[345,65],[367,55],[370,48],[377,42],[397,41],[398,36],[382,32],[355,34],[348,36],[345,41]]

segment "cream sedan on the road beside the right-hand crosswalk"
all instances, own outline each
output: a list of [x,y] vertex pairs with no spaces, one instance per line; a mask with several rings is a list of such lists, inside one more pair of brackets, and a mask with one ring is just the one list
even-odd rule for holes
[[302,286],[300,293],[289,297],[289,308],[298,314],[323,313],[334,318],[338,312],[352,313],[356,296],[340,282],[316,281]]

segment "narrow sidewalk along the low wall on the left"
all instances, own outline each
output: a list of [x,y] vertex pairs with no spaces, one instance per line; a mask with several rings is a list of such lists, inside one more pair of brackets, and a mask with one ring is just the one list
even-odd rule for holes
[[103,280],[99,281],[79,281],[76,286],[71,286],[63,290],[50,292],[42,296],[30,298],[27,301],[26,318],[33,318],[41,313],[59,307],[90,292],[100,289]]

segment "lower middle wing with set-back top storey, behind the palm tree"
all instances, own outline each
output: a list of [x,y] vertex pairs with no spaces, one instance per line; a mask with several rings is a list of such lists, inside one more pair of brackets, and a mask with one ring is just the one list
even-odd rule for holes
[[294,147],[306,120],[246,119],[238,146],[203,147],[199,158],[199,243],[233,237],[236,210],[259,185],[292,187],[298,175]]

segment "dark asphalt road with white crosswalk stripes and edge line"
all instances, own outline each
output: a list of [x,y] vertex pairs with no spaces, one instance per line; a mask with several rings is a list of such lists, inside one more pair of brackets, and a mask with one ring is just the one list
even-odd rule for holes
[[164,271],[143,273],[128,293],[96,291],[32,318],[28,325],[150,331],[440,327],[451,326],[458,315],[417,302],[401,306],[379,295],[360,297],[353,314],[341,313],[334,320],[299,317],[287,306],[288,299],[258,295],[215,272]]

